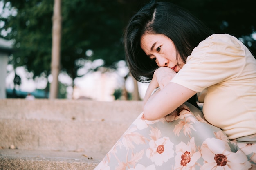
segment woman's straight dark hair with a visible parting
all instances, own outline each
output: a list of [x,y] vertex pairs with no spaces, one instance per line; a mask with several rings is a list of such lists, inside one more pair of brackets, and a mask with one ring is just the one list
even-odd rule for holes
[[[130,20],[124,35],[126,61],[132,76],[141,82],[150,81],[157,64],[140,47],[144,33],[164,34],[170,38],[186,63],[199,42],[213,32],[188,11],[170,2],[150,2]],[[180,63],[177,58],[177,63]]]

